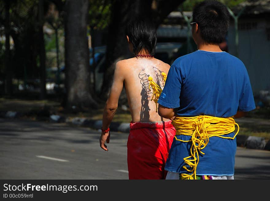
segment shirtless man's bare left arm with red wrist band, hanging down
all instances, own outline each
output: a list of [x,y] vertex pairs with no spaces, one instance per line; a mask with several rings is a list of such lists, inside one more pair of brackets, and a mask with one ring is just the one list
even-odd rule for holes
[[[103,110],[103,117],[102,117],[102,129],[106,130],[110,127],[110,123],[113,120],[114,114],[118,107],[118,100],[119,96],[123,89],[124,83],[124,75],[121,70],[121,66],[119,62],[116,63],[115,71],[114,71],[114,81],[111,87],[109,98],[106,101],[104,110]],[[101,136],[99,139],[99,144],[102,149],[108,151],[106,143],[110,142],[110,133],[108,132],[101,132]]]

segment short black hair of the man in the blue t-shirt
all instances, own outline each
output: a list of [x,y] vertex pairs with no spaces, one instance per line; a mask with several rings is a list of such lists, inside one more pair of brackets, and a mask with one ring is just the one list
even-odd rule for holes
[[224,41],[230,21],[229,11],[224,4],[215,0],[203,1],[194,7],[192,18],[207,44]]

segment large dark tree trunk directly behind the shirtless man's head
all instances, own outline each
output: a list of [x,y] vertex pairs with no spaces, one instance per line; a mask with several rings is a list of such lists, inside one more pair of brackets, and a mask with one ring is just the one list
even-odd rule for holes
[[115,0],[112,4],[106,50],[106,69],[104,70],[102,96],[100,98],[106,99],[109,95],[115,63],[118,60],[132,57],[125,37],[125,27],[128,21],[137,16],[151,17],[156,27],[158,27],[164,18],[182,2],[184,0]]

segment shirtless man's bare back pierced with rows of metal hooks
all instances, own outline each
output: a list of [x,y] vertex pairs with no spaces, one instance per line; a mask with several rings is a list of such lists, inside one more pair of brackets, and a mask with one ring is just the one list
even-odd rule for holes
[[165,121],[156,112],[156,104],[151,101],[153,90],[148,78],[163,89],[164,79],[161,72],[168,74],[170,65],[155,58],[131,58],[118,62],[125,82],[125,90],[132,116],[132,122]]

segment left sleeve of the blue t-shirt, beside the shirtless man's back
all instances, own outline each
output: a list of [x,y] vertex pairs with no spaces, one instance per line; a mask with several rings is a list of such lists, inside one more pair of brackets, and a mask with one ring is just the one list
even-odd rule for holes
[[169,69],[165,86],[160,94],[158,103],[168,108],[178,108],[180,106],[182,78],[180,69],[172,65]]

